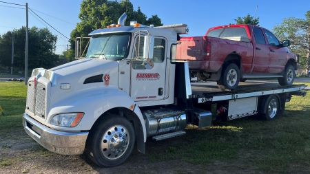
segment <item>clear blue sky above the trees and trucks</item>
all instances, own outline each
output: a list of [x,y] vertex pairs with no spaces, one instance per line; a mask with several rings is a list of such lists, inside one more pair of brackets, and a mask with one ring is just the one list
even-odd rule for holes
[[[25,4],[40,17],[48,21],[62,34],[70,37],[70,32],[79,22],[79,10],[82,0],[1,0],[10,3]],[[118,0],[121,1],[121,0]],[[130,0],[134,9],[151,17],[157,14],[164,25],[186,23],[189,26],[188,36],[202,36],[208,28],[217,25],[235,23],[237,17],[247,14],[260,18],[260,26],[272,30],[283,19],[296,17],[304,19],[304,14],[310,10],[309,0]],[[12,8],[17,7],[17,8]],[[257,10],[256,10],[256,7]],[[0,3],[0,34],[25,25],[25,9],[22,6],[12,6]],[[29,27],[49,28],[58,36],[56,54],[61,54],[68,45],[68,39],[61,36],[38,17],[29,14]]]

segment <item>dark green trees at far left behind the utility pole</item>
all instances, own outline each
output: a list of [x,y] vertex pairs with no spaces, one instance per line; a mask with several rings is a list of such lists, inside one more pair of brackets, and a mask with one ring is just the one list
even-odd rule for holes
[[[25,28],[13,32],[7,32],[0,36],[0,64],[11,66],[12,34],[14,34],[14,67],[23,69],[25,65]],[[54,54],[57,36],[53,35],[47,28],[36,27],[29,30],[28,45],[28,67],[50,68],[58,61]]]

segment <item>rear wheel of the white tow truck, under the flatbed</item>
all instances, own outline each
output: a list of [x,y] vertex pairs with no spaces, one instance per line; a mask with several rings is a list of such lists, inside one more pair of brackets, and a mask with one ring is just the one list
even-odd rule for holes
[[280,102],[275,95],[270,95],[261,101],[260,116],[265,120],[273,120],[280,112]]

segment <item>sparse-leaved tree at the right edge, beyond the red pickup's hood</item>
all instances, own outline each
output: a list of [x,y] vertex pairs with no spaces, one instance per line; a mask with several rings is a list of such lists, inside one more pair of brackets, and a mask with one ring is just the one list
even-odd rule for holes
[[289,39],[292,52],[300,54],[300,66],[309,71],[310,62],[310,11],[306,19],[287,18],[273,28],[273,32],[281,41]]

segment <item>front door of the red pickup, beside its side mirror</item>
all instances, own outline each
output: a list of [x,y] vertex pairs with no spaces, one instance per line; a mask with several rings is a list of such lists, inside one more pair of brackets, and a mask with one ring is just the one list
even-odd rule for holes
[[288,50],[282,47],[280,41],[268,30],[265,30],[265,35],[269,45],[269,73],[281,73],[287,61]]

